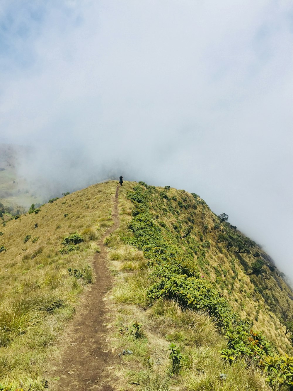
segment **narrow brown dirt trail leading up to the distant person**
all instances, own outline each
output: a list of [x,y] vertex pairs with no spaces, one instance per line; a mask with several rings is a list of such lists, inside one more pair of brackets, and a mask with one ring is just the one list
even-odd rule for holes
[[66,345],[53,377],[60,377],[56,385],[49,387],[65,390],[113,391],[114,374],[107,368],[113,366],[114,357],[107,345],[105,326],[105,293],[111,287],[111,274],[106,266],[107,248],[103,244],[106,235],[119,226],[118,187],[116,189],[112,218],[114,225],[100,239],[100,253],[94,256],[95,282],[84,294],[76,315],[65,335]]

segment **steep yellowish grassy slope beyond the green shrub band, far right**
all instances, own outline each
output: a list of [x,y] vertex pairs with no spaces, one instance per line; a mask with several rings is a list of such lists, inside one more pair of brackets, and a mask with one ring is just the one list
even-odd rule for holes
[[[205,259],[203,262],[197,262],[198,267],[202,271],[202,274],[208,280],[215,283],[218,290],[223,291],[225,297],[230,301],[230,304],[234,310],[238,311],[242,317],[249,317],[254,319],[254,328],[256,330],[264,330],[267,337],[275,343],[277,348],[281,352],[291,353],[291,343],[285,336],[285,328],[280,324],[279,318],[283,313],[289,316],[291,319],[293,316],[293,301],[292,291],[286,285],[286,283],[280,278],[276,272],[270,271],[268,266],[264,266],[265,274],[261,276],[248,276],[246,272],[250,272],[249,265],[255,260],[250,254],[238,254],[235,249],[227,250],[224,243],[217,243],[218,230],[214,230],[214,224],[218,222],[218,218],[209,209],[207,204],[203,202],[197,204],[197,209],[192,210],[188,208],[180,208],[178,201],[182,201],[183,204],[193,203],[194,197],[185,192],[184,190],[170,189],[168,196],[171,198],[173,195],[177,198],[177,201],[171,200],[172,206],[175,210],[179,210],[179,216],[173,215],[168,210],[168,201],[159,197],[159,192],[164,190],[163,188],[157,188],[157,196],[153,208],[154,212],[163,211],[160,213],[160,220],[163,221],[175,236],[177,233],[174,231],[172,224],[182,224],[181,232],[183,235],[184,227],[192,226],[193,230],[186,239],[177,239],[181,241],[181,245],[188,249],[191,242],[197,242],[198,250],[195,255],[195,262],[198,261],[200,251],[205,250]],[[187,201],[184,201],[184,197]],[[201,201],[198,199],[198,201]],[[192,214],[192,218],[195,223],[192,224],[188,221],[188,217]],[[222,231],[230,231],[229,225],[223,223]],[[234,231],[234,230],[232,230]],[[203,234],[202,241],[200,240],[200,233]],[[204,242],[208,240],[211,244],[210,249],[204,248]],[[254,246],[251,249],[251,253],[254,251],[263,251]],[[233,278],[234,272],[232,270],[232,263],[234,261],[238,277]],[[216,267],[216,269],[215,269]],[[226,274],[227,273],[227,274]],[[219,277],[217,279],[217,276]],[[264,303],[264,299],[261,294],[255,292],[254,287],[264,287],[272,300],[269,299],[271,306]],[[273,296],[273,297],[272,297]],[[258,321],[256,312],[259,308]],[[270,310],[272,308],[272,311]]]

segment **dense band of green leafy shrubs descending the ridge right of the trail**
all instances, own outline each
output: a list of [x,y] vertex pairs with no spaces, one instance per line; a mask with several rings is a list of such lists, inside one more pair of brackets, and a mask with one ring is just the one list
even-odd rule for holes
[[[260,357],[273,352],[272,346],[262,334],[255,333],[252,330],[252,321],[241,319],[238,314],[233,312],[232,307],[223,295],[203,276],[200,276],[198,267],[194,262],[195,251],[199,253],[197,256],[198,266],[206,275],[209,275],[209,269],[207,268],[209,261],[205,259],[205,249],[209,249],[211,244],[207,240],[204,241],[204,235],[198,231],[198,236],[202,242],[200,249],[199,242],[193,235],[190,235],[184,240],[186,249],[182,250],[182,247],[178,245],[178,235],[172,234],[172,231],[166,229],[163,224],[160,225],[159,215],[150,212],[150,206],[152,210],[154,209],[154,213],[158,210],[156,210],[153,202],[154,197],[150,196],[148,189],[145,190],[141,186],[136,186],[133,190],[133,192],[130,192],[129,199],[134,207],[137,208],[139,204],[139,208],[128,223],[129,232],[122,239],[143,251],[145,258],[149,260],[150,285],[147,291],[148,300],[151,303],[164,299],[172,300],[178,303],[182,309],[190,308],[209,314],[226,334],[227,349],[222,350],[221,354],[222,358],[227,361],[232,362],[239,357],[257,363]],[[156,197],[157,202],[162,206],[163,200],[158,193]],[[186,199],[186,202],[188,201],[187,197],[182,198],[182,200],[184,199]],[[182,206],[180,206],[180,203]],[[179,201],[178,204],[180,207],[184,206],[182,201]],[[202,205],[204,206],[204,203]],[[160,209],[162,210],[161,206]],[[181,224],[188,224],[188,221],[178,219],[172,223],[173,229],[177,232],[180,231],[182,229]],[[207,229],[205,228],[205,230]],[[234,246],[238,252],[241,252],[244,249],[240,247],[242,244],[246,247],[253,245],[252,241],[248,242],[248,238],[240,237],[235,233],[231,235],[229,228],[227,230],[227,234],[219,233],[218,235],[218,242],[225,242],[227,248]],[[230,262],[233,275],[232,278],[229,278],[229,281],[222,281],[222,273],[225,276],[228,275],[226,269],[220,271],[218,267],[215,267],[215,272],[216,282],[220,284],[222,289],[227,288],[229,293],[232,294],[238,271],[236,270],[235,260],[231,259]],[[240,282],[241,288],[244,291],[243,282]],[[131,295],[132,290],[129,287],[127,298],[120,301],[130,302],[129,297]],[[241,301],[239,306],[243,308],[245,306],[244,302]],[[176,347],[173,346],[173,348],[175,350]],[[179,373],[179,370],[177,372]],[[175,373],[175,369],[173,373]]]

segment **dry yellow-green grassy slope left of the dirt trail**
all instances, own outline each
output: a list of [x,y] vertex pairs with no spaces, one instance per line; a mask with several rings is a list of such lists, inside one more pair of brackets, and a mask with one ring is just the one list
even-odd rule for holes
[[[0,246],[7,251],[0,253],[0,382],[43,389],[45,362],[55,354],[52,344],[91,279],[91,269],[85,278],[75,279],[67,268],[82,270],[91,264],[96,239],[113,223],[115,189],[113,182],[91,186],[1,228]],[[61,255],[61,242],[74,231],[85,242]],[[26,235],[31,238],[24,243]],[[39,239],[33,243],[34,238]]]

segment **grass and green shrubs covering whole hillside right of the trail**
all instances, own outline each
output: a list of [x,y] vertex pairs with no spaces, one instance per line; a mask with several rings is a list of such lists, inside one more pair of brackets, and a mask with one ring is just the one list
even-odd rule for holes
[[[114,298],[120,308],[121,303],[125,303],[117,317],[121,332],[116,346],[128,348],[134,353],[131,357],[123,356],[129,368],[133,368],[129,372],[123,371],[125,379],[128,379],[127,387],[130,387],[129,384],[139,384],[139,390],[155,390],[161,384],[166,389],[265,390],[266,381],[274,389],[290,389],[293,373],[290,357],[279,357],[277,367],[270,356],[276,355],[277,350],[280,353],[284,350],[291,352],[285,328],[280,327],[278,319],[282,320],[282,312],[277,312],[276,317],[270,311],[273,305],[269,307],[261,292],[255,289],[258,280],[259,287],[272,282],[279,303],[287,300],[286,293],[290,290],[274,273],[274,265],[260,262],[268,256],[227,220],[221,222],[221,217],[214,215],[196,194],[170,188],[161,190],[145,183],[127,186],[127,189],[121,190],[123,197],[120,196],[120,217],[124,222],[121,222],[120,231],[106,240],[111,248],[109,257],[115,268],[113,274],[118,271]],[[131,204],[123,199],[126,190],[129,190],[127,197]],[[219,233],[226,235],[230,242],[217,242]],[[255,269],[254,262],[262,263],[261,270]],[[263,275],[267,280],[263,280]],[[242,296],[241,301],[239,296]],[[252,307],[254,300],[258,305]],[[288,316],[292,314],[290,304]],[[133,305],[147,309],[147,313],[139,311],[139,307],[135,309]],[[163,307],[159,314],[158,306]],[[214,342],[215,334],[209,330],[204,340],[195,343],[192,322],[186,333],[184,325],[177,319],[174,330],[174,320],[166,317],[166,306],[175,306],[175,318],[178,316],[179,319],[181,313],[196,316],[200,311],[198,316],[205,319],[208,317],[202,315],[202,311],[209,314],[217,325],[212,328],[218,342]],[[251,308],[254,311],[250,311]],[[143,350],[142,346],[137,346],[137,342],[135,346],[132,344],[131,336],[125,331],[127,323],[134,319],[142,324],[144,330]],[[256,331],[252,330],[254,322]],[[260,328],[261,324],[264,327]],[[173,332],[170,334],[171,325]],[[270,328],[270,325],[273,327]],[[154,328],[157,328],[159,335],[154,334]],[[261,329],[264,331],[261,332]],[[221,335],[225,336],[226,343]],[[182,365],[176,378],[170,378],[172,368],[168,372],[166,362],[161,362],[161,368],[158,368],[153,359],[159,355],[161,360],[163,355],[153,343],[158,338],[164,344],[165,352],[168,346],[164,340],[177,343],[176,349],[182,354],[182,363],[190,362],[192,357],[198,357],[200,350],[205,349],[205,365],[199,367],[197,362],[191,366]],[[213,360],[209,357],[213,357]],[[161,382],[155,384],[153,379],[157,378],[156,374],[159,374]],[[162,382],[168,384],[163,385]]]

